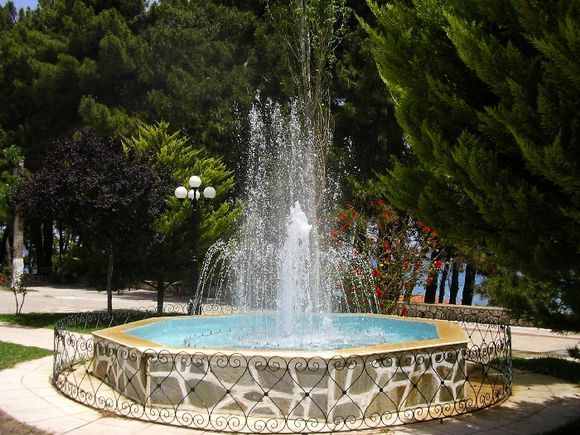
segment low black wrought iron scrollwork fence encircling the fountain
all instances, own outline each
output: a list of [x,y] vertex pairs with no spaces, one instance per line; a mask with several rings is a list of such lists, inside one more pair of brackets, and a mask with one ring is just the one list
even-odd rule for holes
[[[168,306],[163,315],[186,311]],[[73,400],[118,415],[245,433],[415,423],[473,412],[511,394],[507,318],[413,305],[405,314],[458,323],[469,341],[331,357],[140,348],[91,331],[158,316],[154,311],[91,312],[56,324],[53,383]]]

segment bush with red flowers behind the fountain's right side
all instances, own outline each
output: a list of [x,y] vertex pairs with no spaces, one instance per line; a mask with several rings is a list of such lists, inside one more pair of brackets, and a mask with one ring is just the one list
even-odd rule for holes
[[[382,200],[362,210],[347,206],[336,217],[330,240],[339,253],[342,286],[352,308],[392,312],[408,302],[418,284],[431,284],[437,259],[437,233]],[[431,281],[431,282],[430,282]]]

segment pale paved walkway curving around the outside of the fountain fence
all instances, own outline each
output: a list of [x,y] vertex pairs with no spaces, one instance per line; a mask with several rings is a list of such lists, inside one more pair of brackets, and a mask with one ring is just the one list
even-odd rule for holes
[[[109,417],[73,402],[49,383],[52,357],[0,372],[0,408],[55,434],[194,434],[200,431]],[[515,371],[514,394],[500,406],[471,415],[394,428],[400,434],[536,434],[580,415],[580,389],[548,376]],[[369,432],[365,432],[369,433]],[[377,432],[384,433],[384,432]]]

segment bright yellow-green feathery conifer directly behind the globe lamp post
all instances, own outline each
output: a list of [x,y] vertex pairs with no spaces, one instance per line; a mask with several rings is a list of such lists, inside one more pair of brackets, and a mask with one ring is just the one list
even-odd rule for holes
[[[153,244],[141,260],[148,278],[174,281],[188,270],[192,244],[198,258],[203,258],[212,243],[227,238],[233,230],[240,211],[229,198],[234,188],[233,174],[220,158],[208,157],[205,150],[193,147],[180,132],[171,133],[166,122],[140,124],[136,134],[124,140],[123,149],[132,161],[171,180],[171,189],[166,192],[167,207],[156,220]],[[179,184],[188,186],[193,174],[200,176],[205,186],[216,189],[214,199],[199,201],[199,240],[193,239],[192,208],[184,207],[173,196],[173,189]]]

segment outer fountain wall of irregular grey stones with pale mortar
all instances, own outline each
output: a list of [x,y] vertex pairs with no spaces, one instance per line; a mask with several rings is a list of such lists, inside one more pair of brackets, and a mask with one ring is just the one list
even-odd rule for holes
[[[129,358],[127,358],[129,356]],[[145,350],[99,339],[92,374],[146,406],[337,421],[465,399],[466,346],[364,356]]]

